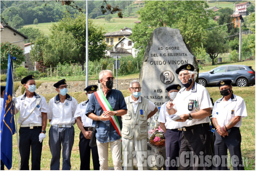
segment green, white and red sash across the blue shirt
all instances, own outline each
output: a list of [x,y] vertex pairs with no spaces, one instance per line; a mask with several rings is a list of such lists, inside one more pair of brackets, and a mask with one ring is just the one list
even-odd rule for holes
[[[104,111],[109,111],[109,110],[114,111],[112,109],[112,107],[110,106],[110,104],[108,103],[108,100],[104,96],[104,93],[103,93],[102,89],[100,89],[99,91],[94,92],[94,95],[95,95],[96,99],[98,100],[98,102],[100,103],[100,106],[102,107],[102,109]],[[117,116],[111,116],[110,122],[114,126],[114,129],[117,131],[119,136],[121,136],[121,129],[120,129],[120,125],[119,125]]]

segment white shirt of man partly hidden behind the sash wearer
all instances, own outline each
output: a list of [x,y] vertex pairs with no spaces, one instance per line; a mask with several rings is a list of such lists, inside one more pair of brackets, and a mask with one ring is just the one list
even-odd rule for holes
[[87,117],[85,115],[85,111],[87,108],[89,100],[83,101],[82,103],[79,103],[77,106],[77,110],[75,111],[74,119],[77,119],[77,117],[81,117],[82,123],[84,127],[92,127],[92,119]]

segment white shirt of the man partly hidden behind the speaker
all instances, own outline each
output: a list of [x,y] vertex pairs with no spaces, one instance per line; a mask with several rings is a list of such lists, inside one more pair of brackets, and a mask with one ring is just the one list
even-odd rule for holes
[[181,128],[180,122],[175,122],[172,119],[170,119],[170,115],[169,115],[169,113],[167,112],[167,109],[166,109],[166,103],[167,102],[165,102],[161,106],[161,109],[159,111],[159,116],[158,116],[158,122],[164,123],[165,128],[169,129],[169,130]]

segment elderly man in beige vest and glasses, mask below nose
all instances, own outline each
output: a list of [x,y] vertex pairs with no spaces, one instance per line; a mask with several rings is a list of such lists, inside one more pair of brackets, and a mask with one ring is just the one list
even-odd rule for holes
[[136,154],[138,170],[147,170],[147,120],[158,109],[150,100],[140,96],[139,81],[131,81],[129,91],[131,95],[125,97],[128,111],[123,115],[123,166],[124,170],[133,170],[133,156]]

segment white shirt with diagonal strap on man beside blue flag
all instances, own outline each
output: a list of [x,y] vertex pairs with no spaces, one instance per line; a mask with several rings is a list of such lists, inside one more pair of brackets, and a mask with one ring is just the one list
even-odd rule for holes
[[36,101],[38,98],[40,98],[40,96],[37,95],[37,93],[34,93],[32,98],[27,98],[26,93],[17,97],[15,107],[20,111],[18,119],[19,124],[21,124],[33,109],[35,109],[33,113],[22,124],[42,124],[42,112],[48,113],[50,110],[44,97],[42,97],[39,107],[36,107]]

